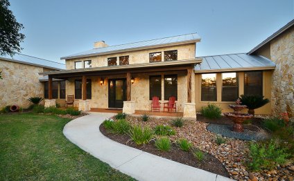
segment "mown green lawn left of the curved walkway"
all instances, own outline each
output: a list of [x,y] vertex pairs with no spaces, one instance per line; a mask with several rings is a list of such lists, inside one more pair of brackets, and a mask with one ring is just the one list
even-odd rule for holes
[[69,119],[0,115],[0,180],[132,180],[69,142]]

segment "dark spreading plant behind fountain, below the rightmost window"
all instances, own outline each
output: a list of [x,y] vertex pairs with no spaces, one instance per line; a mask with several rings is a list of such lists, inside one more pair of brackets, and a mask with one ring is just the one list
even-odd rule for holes
[[243,105],[246,105],[248,107],[248,113],[254,115],[254,109],[260,108],[270,100],[263,99],[263,95],[241,95],[240,99]]

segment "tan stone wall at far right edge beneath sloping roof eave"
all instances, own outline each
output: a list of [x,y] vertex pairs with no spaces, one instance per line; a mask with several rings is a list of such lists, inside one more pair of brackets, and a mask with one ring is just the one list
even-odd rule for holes
[[294,116],[294,27],[270,42],[270,59],[276,68],[273,73],[272,106],[273,113],[284,111]]

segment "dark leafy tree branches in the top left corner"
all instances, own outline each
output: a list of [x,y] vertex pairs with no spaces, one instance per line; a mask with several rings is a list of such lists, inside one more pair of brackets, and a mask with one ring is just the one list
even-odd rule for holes
[[22,49],[19,44],[25,36],[19,32],[24,26],[17,22],[8,6],[8,0],[0,0],[0,55],[12,56]]

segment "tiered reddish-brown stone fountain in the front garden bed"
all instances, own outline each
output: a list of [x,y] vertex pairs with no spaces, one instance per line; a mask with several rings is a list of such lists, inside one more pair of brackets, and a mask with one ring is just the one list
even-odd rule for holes
[[249,120],[253,115],[247,113],[241,113],[244,108],[247,108],[246,105],[241,105],[241,100],[238,98],[236,100],[236,104],[230,104],[230,108],[234,109],[234,113],[223,113],[226,117],[229,117],[230,120],[234,122],[233,131],[243,132],[242,123],[245,120]]

